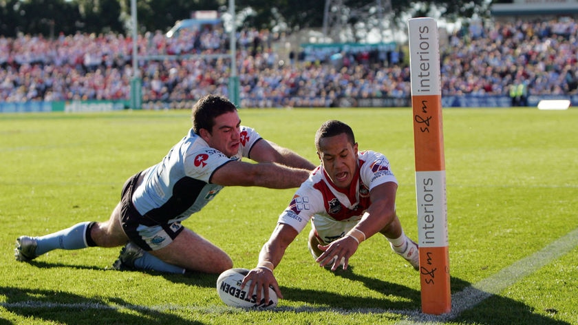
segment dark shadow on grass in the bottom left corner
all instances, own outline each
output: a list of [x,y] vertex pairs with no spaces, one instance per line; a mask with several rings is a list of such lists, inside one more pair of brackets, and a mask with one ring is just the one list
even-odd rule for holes
[[[114,297],[83,297],[58,290],[0,287],[10,313],[56,324],[203,324],[191,319],[129,304]],[[6,323],[10,324],[10,323]]]

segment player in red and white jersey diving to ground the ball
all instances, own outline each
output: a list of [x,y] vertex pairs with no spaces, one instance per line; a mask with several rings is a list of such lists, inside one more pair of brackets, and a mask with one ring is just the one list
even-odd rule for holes
[[396,215],[398,184],[387,158],[375,151],[358,151],[351,127],[337,120],[321,125],[315,145],[321,166],[281,213],[261,248],[257,267],[243,280],[242,286],[250,281],[248,292],[257,286],[257,301],[261,292],[268,301],[269,286],[283,297],[273,270],[310,220],[308,246],[320,266],[347,269],[361,242],[381,233],[396,253],[419,268],[418,245],[407,238]]

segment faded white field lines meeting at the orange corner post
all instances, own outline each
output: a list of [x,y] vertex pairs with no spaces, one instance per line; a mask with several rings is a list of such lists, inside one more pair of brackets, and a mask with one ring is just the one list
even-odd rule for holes
[[[406,315],[408,318],[403,319],[396,324],[443,324],[458,317],[463,311],[479,304],[491,295],[497,295],[508,286],[511,286],[527,275],[531,275],[546,264],[557,260],[561,256],[570,252],[578,246],[578,228],[570,231],[561,238],[555,240],[544,249],[533,253],[532,255],[518,260],[502,269],[501,271],[486,277],[476,284],[468,286],[466,289],[451,295],[451,312],[443,315],[427,315],[418,310],[400,310],[400,309],[382,309],[382,308],[359,308],[356,310],[343,308],[314,308],[310,306],[301,307],[279,307],[277,311],[292,311],[294,313],[310,313],[319,311],[330,311],[343,315],[355,313],[392,313],[397,315]],[[73,309],[100,309],[100,310],[136,310],[136,311],[204,311],[206,313],[219,311],[235,311],[237,308],[220,306],[220,307],[201,307],[201,306],[181,306],[181,305],[159,305],[159,306],[140,306],[140,305],[108,305],[100,303],[76,303],[63,304],[56,302],[3,302],[0,306],[4,308],[73,308]],[[242,312],[239,311],[239,312]]]

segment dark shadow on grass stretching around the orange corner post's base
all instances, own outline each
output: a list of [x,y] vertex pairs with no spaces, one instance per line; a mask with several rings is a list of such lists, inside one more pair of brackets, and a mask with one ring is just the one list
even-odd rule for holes
[[[352,266],[347,271],[337,271],[335,276],[361,282],[367,289],[383,293],[385,297],[354,297],[334,292],[282,287],[285,300],[317,305],[281,307],[281,311],[313,313],[332,311],[336,313],[394,313],[408,317],[410,322],[456,322],[459,324],[515,325],[546,324],[569,325],[570,323],[538,315],[531,306],[506,297],[491,295],[471,288],[471,283],[451,277],[452,311],[444,315],[421,313],[420,291],[407,286],[356,274]],[[459,291],[460,294],[456,294]],[[463,291],[463,292],[462,292]],[[467,293],[467,294],[462,294]],[[478,302],[472,304],[471,302]],[[471,304],[471,306],[469,306]],[[469,306],[464,308],[463,306]],[[555,310],[544,311],[557,313]]]

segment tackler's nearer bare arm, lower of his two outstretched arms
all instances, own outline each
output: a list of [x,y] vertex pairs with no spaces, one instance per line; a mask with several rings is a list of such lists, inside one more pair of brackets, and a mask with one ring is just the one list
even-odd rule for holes
[[224,186],[260,186],[270,189],[290,189],[301,186],[309,177],[308,169],[279,165],[275,162],[253,164],[231,161],[217,169],[210,182]]

